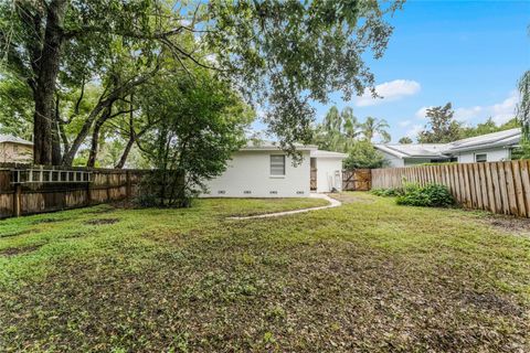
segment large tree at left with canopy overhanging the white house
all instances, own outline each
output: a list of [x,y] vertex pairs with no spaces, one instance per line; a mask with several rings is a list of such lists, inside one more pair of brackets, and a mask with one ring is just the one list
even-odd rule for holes
[[247,101],[266,106],[269,130],[292,150],[310,137],[310,100],[327,101],[337,90],[348,99],[373,87],[362,55],[383,55],[392,33],[385,15],[402,2],[0,0],[2,71],[31,89],[39,164],[61,162],[57,88],[100,79],[124,49],[137,55],[137,75],[105,87],[70,149],[63,147],[66,164],[116,99],[163,66],[160,55],[189,73],[212,69]]

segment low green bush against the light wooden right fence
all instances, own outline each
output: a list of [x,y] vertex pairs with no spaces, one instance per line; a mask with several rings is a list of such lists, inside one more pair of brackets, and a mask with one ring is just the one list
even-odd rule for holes
[[439,184],[405,184],[404,193],[396,199],[399,205],[423,207],[448,207],[455,204],[449,190]]

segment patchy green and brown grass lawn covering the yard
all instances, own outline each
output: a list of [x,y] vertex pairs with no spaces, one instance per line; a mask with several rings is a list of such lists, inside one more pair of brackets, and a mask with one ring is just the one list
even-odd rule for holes
[[0,351],[530,351],[524,223],[340,199],[2,221]]

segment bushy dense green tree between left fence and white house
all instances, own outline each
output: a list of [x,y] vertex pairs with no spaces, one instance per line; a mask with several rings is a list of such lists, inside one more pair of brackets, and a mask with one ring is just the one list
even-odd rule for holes
[[248,107],[208,71],[194,75],[160,77],[144,92],[144,111],[159,120],[138,141],[157,170],[142,184],[144,205],[190,205],[204,180],[222,173],[245,141],[253,118]]

